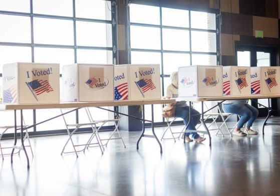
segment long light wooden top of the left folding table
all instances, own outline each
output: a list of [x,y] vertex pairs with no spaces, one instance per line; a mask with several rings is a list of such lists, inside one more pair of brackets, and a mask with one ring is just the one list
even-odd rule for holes
[[62,102],[62,103],[55,103],[55,104],[13,104],[13,105],[1,104],[0,110],[129,106],[129,105],[171,104],[175,102],[176,102],[175,99],[155,99],[155,100],[142,100],[142,101]]

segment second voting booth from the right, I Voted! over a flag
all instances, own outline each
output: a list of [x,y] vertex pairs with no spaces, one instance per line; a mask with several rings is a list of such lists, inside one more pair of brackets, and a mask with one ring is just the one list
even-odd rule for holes
[[222,67],[223,96],[251,94],[250,67]]

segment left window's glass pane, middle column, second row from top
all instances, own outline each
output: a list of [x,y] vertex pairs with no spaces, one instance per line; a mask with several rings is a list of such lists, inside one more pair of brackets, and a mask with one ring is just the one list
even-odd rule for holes
[[74,45],[73,21],[34,18],[36,44]]

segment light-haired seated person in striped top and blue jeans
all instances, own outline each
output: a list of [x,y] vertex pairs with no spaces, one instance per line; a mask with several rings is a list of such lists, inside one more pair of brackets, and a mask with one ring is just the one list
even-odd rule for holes
[[[170,98],[178,98],[178,72],[173,72],[170,76],[171,84],[167,86],[166,91],[166,99]],[[189,121],[189,106],[187,106],[186,101],[177,101],[175,104],[175,115],[174,117],[183,118],[184,124],[187,125]],[[200,114],[195,109],[191,108],[191,120],[186,130],[196,130],[195,126],[200,120]],[[202,142],[206,138],[200,137],[197,132],[186,132],[184,135],[186,136],[186,141],[193,141],[189,137],[191,134],[192,138],[197,142]]]

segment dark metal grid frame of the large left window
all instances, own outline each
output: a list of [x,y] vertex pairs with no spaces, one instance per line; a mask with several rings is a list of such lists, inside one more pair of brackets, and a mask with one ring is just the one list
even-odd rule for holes
[[[77,18],[76,11],[75,11],[75,4],[76,0],[72,0],[72,8],[73,8],[73,16],[66,17],[66,16],[55,16],[55,15],[45,15],[45,14],[36,14],[33,12],[33,0],[30,0],[30,12],[23,13],[23,12],[13,12],[13,11],[4,11],[0,10],[0,14],[2,15],[13,15],[13,16],[26,16],[30,17],[31,21],[31,43],[14,43],[14,42],[0,42],[0,46],[20,46],[20,47],[30,47],[31,48],[31,55],[32,55],[32,62],[34,63],[34,49],[35,47],[43,47],[43,48],[65,48],[65,49],[73,49],[74,50],[74,61],[73,63],[77,63],[77,50],[78,49],[90,49],[90,50],[105,50],[105,51],[112,51],[113,59],[112,62],[116,64],[118,62],[118,54],[117,54],[117,1],[116,0],[106,0],[107,3],[111,3],[111,20],[99,20],[99,19],[88,19],[88,18]],[[109,10],[109,8],[108,8]],[[110,11],[110,10],[109,10]],[[35,44],[34,43],[34,18],[48,18],[48,19],[58,19],[58,20],[70,20],[73,21],[73,39],[74,45],[55,45],[55,44]],[[94,23],[104,23],[111,25],[112,28],[112,47],[93,47],[93,46],[79,46],[77,45],[77,35],[76,35],[76,21],[85,21],[85,22],[94,22]],[[0,77],[2,77],[2,73],[0,73]],[[60,77],[62,75],[60,74]],[[76,123],[79,122],[79,112],[76,111]],[[33,123],[36,124],[36,110],[33,110]],[[104,126],[102,129],[113,129],[115,126]],[[84,128],[81,131],[89,131],[90,128]],[[46,131],[37,131],[36,126],[34,127],[33,131],[30,131],[30,135],[48,135],[48,134],[60,134],[66,133],[66,129],[59,129],[59,130],[46,130]],[[3,137],[13,137],[13,133],[7,133]]]

